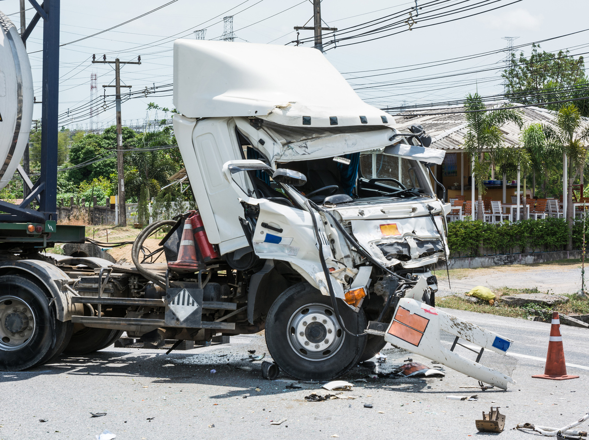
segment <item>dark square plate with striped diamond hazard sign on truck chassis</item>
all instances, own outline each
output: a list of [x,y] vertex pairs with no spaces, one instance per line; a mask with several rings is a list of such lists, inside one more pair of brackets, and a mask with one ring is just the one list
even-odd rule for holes
[[166,324],[200,328],[203,316],[203,289],[168,289]]

